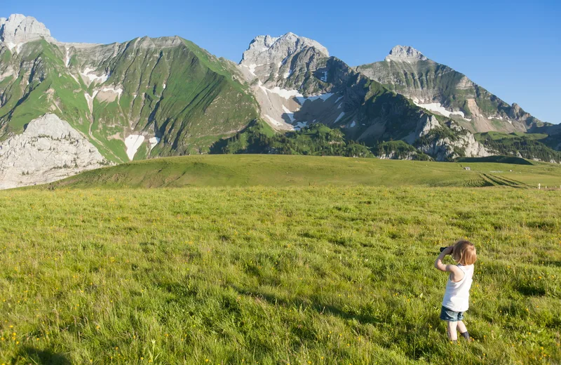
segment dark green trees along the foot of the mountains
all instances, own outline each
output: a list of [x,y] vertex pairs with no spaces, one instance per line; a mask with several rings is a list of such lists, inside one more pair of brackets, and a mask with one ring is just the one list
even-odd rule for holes
[[[263,121],[253,121],[243,131],[231,138],[220,140],[210,148],[212,154],[303,154],[311,156],[379,157],[384,159],[414,159],[429,161],[432,158],[417,147],[431,145],[438,140],[455,141],[462,131],[447,126],[434,128],[409,145],[403,140],[379,141],[372,147],[348,140],[341,129],[323,124],[312,124],[299,131],[276,133]],[[525,159],[561,162],[561,152],[527,135],[481,133],[478,140],[498,155],[518,156]],[[454,147],[459,157],[464,157],[461,147]]]

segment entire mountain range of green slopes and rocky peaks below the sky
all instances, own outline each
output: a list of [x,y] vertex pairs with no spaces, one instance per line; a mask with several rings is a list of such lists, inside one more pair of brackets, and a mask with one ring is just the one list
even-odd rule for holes
[[[283,148],[295,140],[323,147]],[[386,159],[560,162],[560,142],[559,126],[409,46],[351,67],[312,39],[257,36],[236,64],[179,36],[64,43],[35,18],[0,18],[0,188],[133,159],[336,144]]]

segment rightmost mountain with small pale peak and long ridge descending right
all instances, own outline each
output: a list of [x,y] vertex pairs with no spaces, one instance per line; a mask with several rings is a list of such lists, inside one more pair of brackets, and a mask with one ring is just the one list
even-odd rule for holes
[[356,67],[428,110],[452,117],[472,133],[527,131],[541,121],[454,69],[429,60],[411,47],[396,46],[386,60]]

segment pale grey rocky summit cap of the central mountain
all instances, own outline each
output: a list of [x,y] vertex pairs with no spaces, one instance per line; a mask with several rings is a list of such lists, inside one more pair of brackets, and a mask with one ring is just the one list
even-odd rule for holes
[[317,41],[289,32],[278,37],[256,36],[248,50],[243,53],[240,65],[269,65],[282,62],[306,48],[315,48],[318,53],[329,57],[327,48]]

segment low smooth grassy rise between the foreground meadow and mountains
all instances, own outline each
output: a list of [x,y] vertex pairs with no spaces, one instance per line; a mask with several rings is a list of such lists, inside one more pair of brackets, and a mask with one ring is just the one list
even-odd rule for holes
[[[384,185],[482,187],[507,179],[520,187],[561,186],[561,166],[444,163],[294,155],[203,155],[149,159],[81,173],[60,187]],[[469,166],[471,171],[464,171]],[[489,183],[486,175],[498,176]]]

